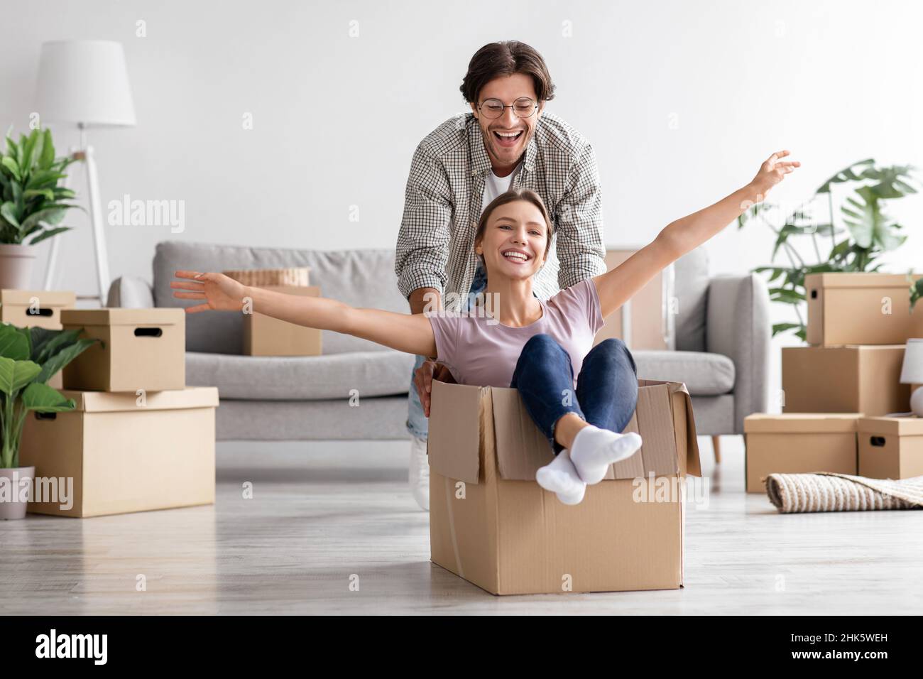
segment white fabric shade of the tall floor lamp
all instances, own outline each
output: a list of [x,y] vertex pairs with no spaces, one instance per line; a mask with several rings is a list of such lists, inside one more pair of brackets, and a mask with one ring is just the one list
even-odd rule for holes
[[45,42],[36,111],[42,121],[85,127],[135,125],[135,104],[121,42]]

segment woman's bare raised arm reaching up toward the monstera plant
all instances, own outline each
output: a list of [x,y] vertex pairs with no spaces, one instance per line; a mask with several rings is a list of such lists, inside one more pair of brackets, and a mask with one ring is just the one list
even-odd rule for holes
[[786,155],[787,151],[773,153],[747,186],[704,210],[667,224],[653,243],[635,252],[612,271],[594,276],[603,318],[621,307],[670,263],[698,248],[751,205],[764,200],[771,188],[800,166],[797,161],[780,160]]

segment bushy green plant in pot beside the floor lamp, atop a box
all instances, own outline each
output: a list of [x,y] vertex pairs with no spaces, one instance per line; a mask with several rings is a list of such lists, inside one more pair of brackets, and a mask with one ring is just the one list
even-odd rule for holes
[[58,186],[71,163],[54,157],[51,130],[33,129],[19,143],[7,132],[6,153],[0,152],[0,288],[28,288],[35,244],[70,228],[57,224],[78,207],[64,202],[74,191]]

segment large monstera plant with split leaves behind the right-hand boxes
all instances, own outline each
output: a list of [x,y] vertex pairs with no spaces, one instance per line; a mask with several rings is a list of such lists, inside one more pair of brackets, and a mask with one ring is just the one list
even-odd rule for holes
[[[805,276],[809,273],[826,272],[877,272],[882,254],[900,247],[906,237],[901,233],[901,224],[887,213],[887,202],[917,193],[916,168],[913,165],[882,167],[873,158],[859,161],[840,170],[814,191],[814,195],[796,210],[789,212],[782,224],[775,225],[767,219],[767,212],[777,209],[772,203],[757,203],[737,218],[742,228],[754,219],[769,226],[775,234],[775,244],[770,266],[754,269],[757,273],[768,273],[769,294],[773,302],[791,306],[797,322],[773,324],[773,336],[793,330],[804,341],[807,325],[800,307],[805,302]],[[852,193],[840,202],[839,211],[833,207],[833,188],[842,184]],[[827,214],[821,217],[821,224],[814,218],[816,209]],[[837,215],[837,212],[840,214]],[[783,213],[785,214],[785,213]],[[841,226],[835,225],[840,217]],[[778,223],[776,223],[778,224]],[[808,248],[796,247],[808,243],[809,251],[816,263],[806,261],[811,255],[804,254]],[[827,244],[829,254],[821,257],[821,248]],[[785,254],[787,266],[776,263],[776,257]],[[773,285],[774,284],[774,285]],[[923,282],[909,285],[911,308],[917,297],[923,295]]]

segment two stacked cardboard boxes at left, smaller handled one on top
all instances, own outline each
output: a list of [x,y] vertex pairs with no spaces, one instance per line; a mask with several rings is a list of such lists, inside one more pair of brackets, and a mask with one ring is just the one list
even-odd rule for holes
[[[20,462],[69,503],[30,512],[96,516],[214,503],[214,387],[186,388],[183,309],[65,309],[101,342],[64,370],[63,413],[30,413]],[[60,491],[59,491],[60,492]],[[60,499],[60,495],[59,495]]]

